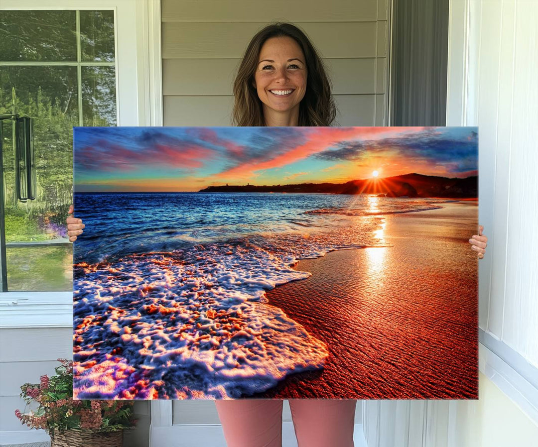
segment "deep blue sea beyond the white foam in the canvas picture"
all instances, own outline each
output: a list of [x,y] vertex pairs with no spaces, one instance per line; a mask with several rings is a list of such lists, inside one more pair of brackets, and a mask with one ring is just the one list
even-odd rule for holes
[[442,202],[331,194],[76,193],[75,215],[86,228],[75,244],[75,262],[285,235],[301,227],[329,229],[349,223],[343,216],[420,211]]

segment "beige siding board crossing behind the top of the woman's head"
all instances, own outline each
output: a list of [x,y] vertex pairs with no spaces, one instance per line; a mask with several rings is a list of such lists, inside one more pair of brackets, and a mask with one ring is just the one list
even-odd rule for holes
[[[297,23],[315,42],[324,58],[385,57],[376,45],[385,34],[386,22]],[[264,25],[259,23],[162,24],[163,59],[234,59],[243,55],[247,43]]]

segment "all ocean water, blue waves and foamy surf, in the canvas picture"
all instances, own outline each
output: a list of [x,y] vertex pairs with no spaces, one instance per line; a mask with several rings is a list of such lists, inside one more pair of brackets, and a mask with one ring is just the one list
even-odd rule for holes
[[443,202],[75,193],[86,224],[74,246],[75,396],[240,398],[322,370],[327,344],[270,306],[266,290],[308,278],[293,268],[300,259],[385,245],[384,215]]

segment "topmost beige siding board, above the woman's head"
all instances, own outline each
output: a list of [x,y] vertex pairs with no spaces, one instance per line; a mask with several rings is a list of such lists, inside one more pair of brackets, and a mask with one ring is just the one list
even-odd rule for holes
[[377,0],[162,0],[161,8],[162,22],[368,22],[378,15]]

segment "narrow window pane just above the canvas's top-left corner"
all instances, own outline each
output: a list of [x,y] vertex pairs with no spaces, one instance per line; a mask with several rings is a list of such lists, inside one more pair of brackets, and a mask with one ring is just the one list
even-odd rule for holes
[[115,67],[82,67],[82,123],[116,125]]

